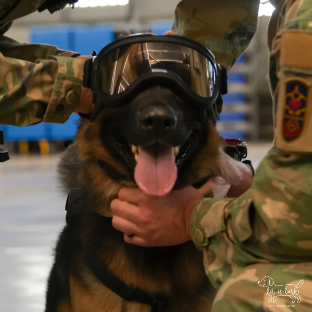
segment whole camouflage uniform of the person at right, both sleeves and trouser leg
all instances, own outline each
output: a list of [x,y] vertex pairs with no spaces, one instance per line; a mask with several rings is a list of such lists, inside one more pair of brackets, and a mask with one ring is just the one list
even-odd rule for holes
[[[271,2],[274,147],[251,189],[235,199],[206,198],[191,216],[193,242],[218,289],[213,312],[312,311],[312,0]],[[258,6],[184,0],[177,32],[230,69],[256,31]]]

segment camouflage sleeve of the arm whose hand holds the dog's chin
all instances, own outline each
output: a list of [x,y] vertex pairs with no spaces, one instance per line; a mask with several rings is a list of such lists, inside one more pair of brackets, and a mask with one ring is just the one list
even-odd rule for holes
[[272,148],[252,187],[238,198],[206,198],[192,212],[191,234],[215,287],[252,263],[308,261],[311,255],[311,154]]

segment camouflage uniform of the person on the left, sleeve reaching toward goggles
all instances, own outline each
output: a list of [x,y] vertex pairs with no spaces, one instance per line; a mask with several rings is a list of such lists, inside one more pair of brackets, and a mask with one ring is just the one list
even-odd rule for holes
[[[44,44],[21,44],[3,34],[44,0],[0,0],[0,124],[64,123],[80,100],[81,59]],[[71,55],[74,53],[68,53]]]

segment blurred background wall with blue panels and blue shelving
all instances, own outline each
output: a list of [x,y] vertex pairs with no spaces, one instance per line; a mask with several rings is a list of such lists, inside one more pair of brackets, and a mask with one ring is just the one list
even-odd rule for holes
[[[118,32],[132,27],[150,27],[161,35],[171,29],[177,0],[80,0],[51,15],[35,12],[13,23],[6,33],[19,42],[46,43],[88,55],[113,41]],[[268,53],[266,28],[273,7],[261,0],[259,26],[252,44],[228,74],[229,93],[218,129],[224,137],[254,141],[272,140],[271,96],[266,79]],[[74,138],[76,120],[72,114],[65,124],[31,127],[0,126],[11,150],[28,154],[35,149],[49,153],[62,149]]]

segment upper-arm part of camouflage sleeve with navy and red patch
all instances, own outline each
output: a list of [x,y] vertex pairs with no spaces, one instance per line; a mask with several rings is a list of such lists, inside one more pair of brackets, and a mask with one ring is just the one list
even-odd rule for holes
[[289,2],[286,11],[270,53],[271,68],[275,68],[270,80],[277,81],[275,144],[280,149],[311,153],[312,0]]

